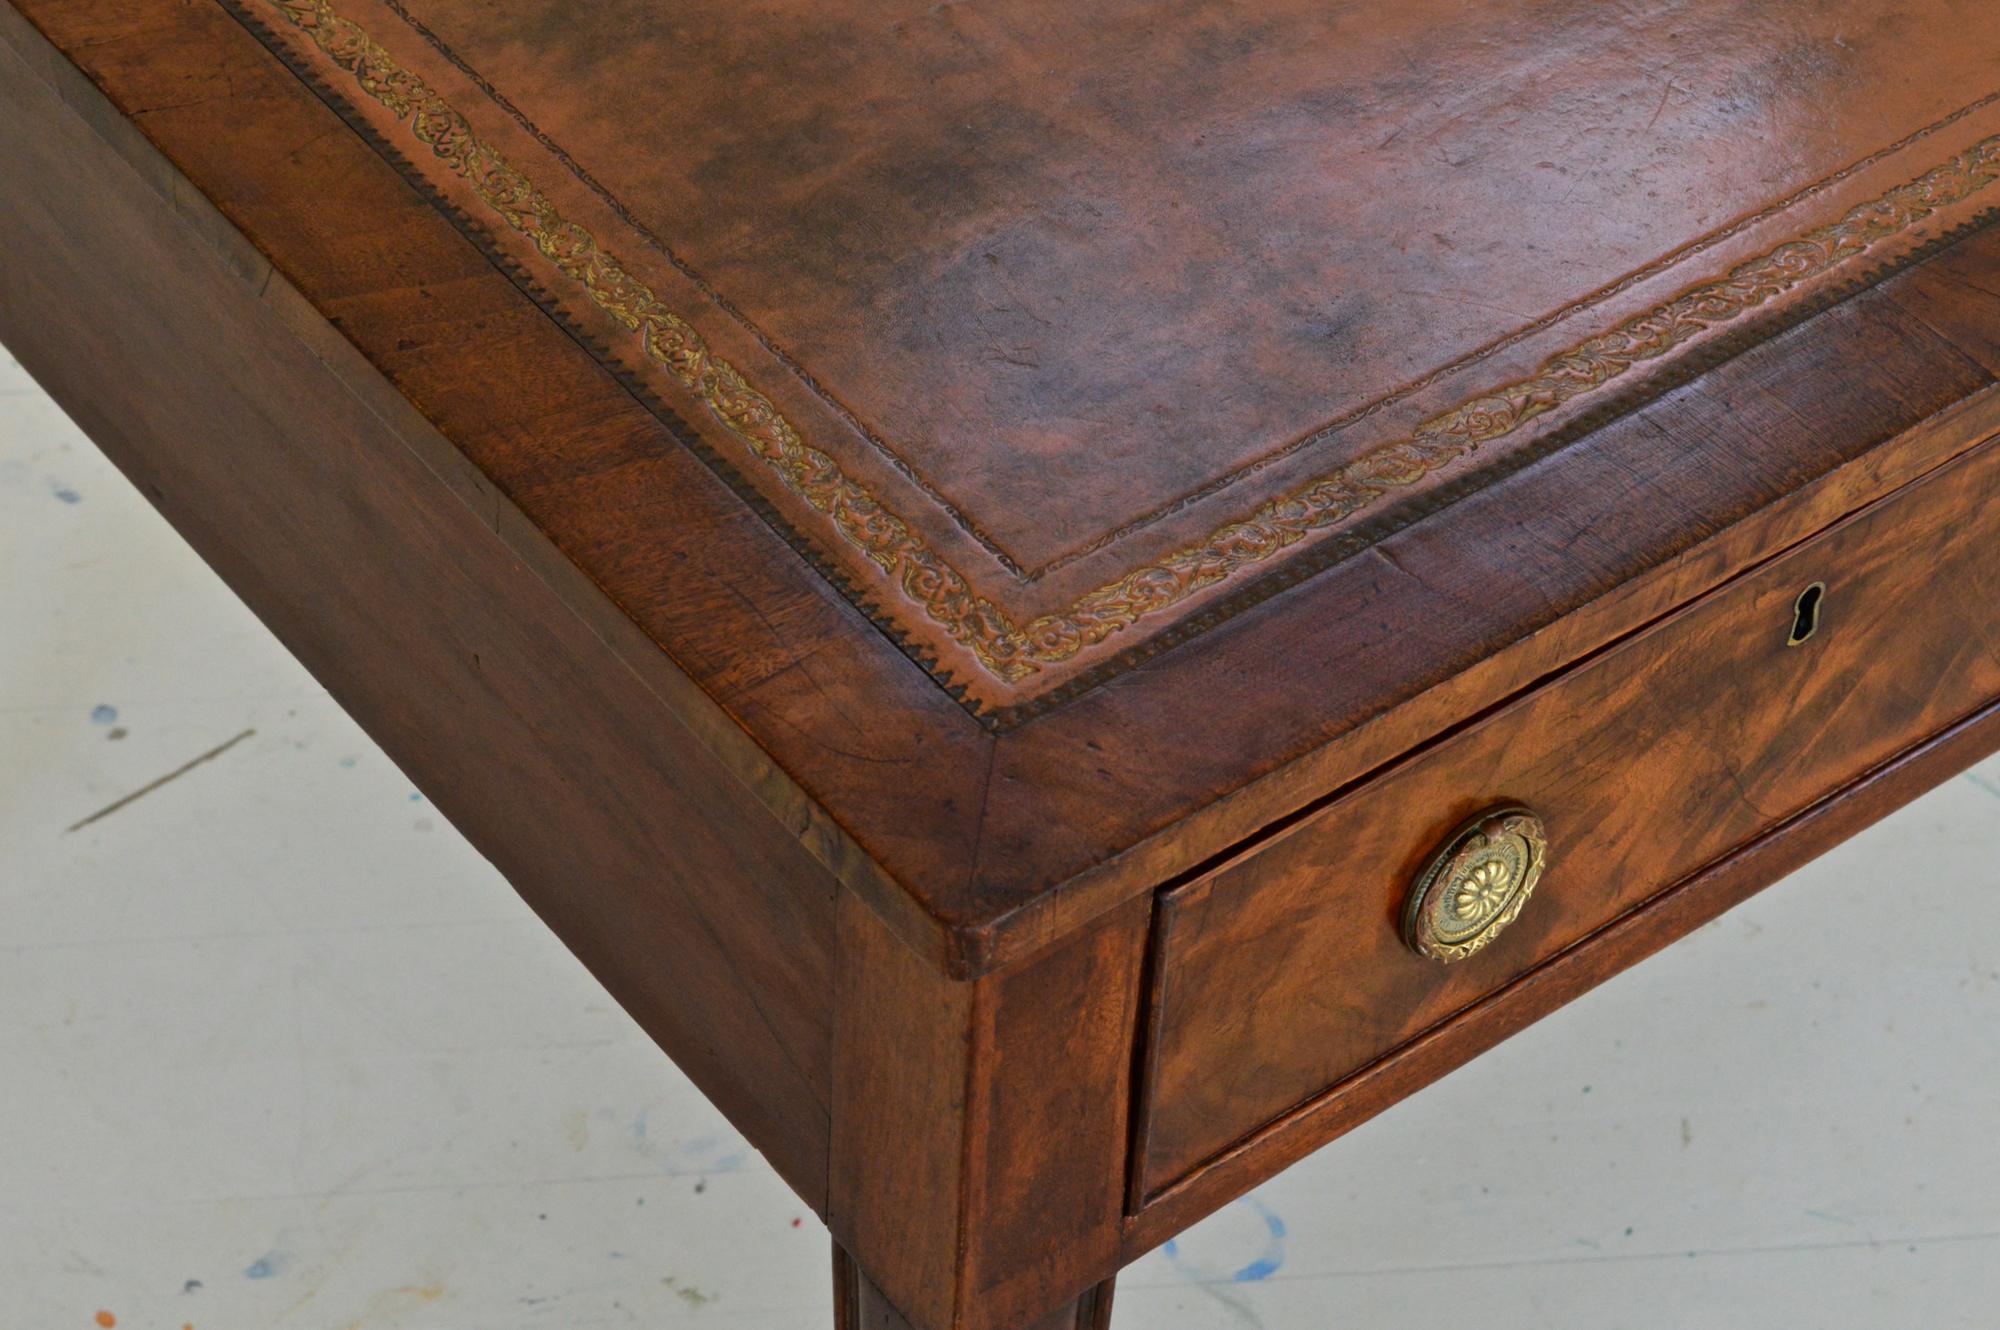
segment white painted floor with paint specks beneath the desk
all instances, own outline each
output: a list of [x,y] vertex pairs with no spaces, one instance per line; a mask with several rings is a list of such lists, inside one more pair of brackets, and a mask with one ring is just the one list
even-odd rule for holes
[[[1118,1322],[1992,1330],[1996,888],[1988,764],[1148,1256]],[[800,1330],[826,1284],[818,1222],[0,358],[0,1330]]]

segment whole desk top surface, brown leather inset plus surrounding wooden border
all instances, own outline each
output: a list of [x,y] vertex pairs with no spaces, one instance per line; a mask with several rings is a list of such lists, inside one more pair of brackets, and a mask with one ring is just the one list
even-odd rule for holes
[[[224,0],[158,68],[18,8],[956,968],[1664,612],[1992,382],[1882,294],[2000,204],[1982,0]],[[272,56],[560,372],[442,388],[472,324],[340,308],[278,166],[166,142],[172,78]],[[1828,344],[1868,350],[1804,382]]]

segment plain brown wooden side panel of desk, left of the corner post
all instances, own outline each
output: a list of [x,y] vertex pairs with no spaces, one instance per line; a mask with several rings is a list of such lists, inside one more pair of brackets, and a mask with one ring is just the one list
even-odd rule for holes
[[0,68],[0,178],[60,182],[0,190],[36,256],[0,266],[0,338],[824,1208],[834,878],[294,336],[278,278],[162,208],[90,88]]

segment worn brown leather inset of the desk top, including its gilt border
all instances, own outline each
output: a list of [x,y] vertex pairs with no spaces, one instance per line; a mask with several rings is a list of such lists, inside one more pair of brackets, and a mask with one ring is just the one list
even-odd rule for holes
[[[740,438],[722,462],[986,708],[1354,516],[1274,536],[1260,506],[2000,132],[1972,0],[244,8],[322,66],[310,30],[358,24],[740,368],[906,538],[830,522]],[[1404,462],[1360,508],[1466,466]]]

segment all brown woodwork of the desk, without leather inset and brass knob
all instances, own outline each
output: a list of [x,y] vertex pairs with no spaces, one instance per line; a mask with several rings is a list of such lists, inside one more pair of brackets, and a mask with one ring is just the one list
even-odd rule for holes
[[[1122,1260],[1996,732],[1964,720],[2000,696],[2000,232],[1970,194],[996,718],[724,462],[734,380],[630,372],[600,342],[644,320],[578,318],[344,66],[234,8],[0,6],[0,338],[826,1214],[848,1330],[1102,1330]],[[574,22],[524,50],[610,20]],[[1806,130],[1880,196],[1910,106],[1860,110]],[[1846,218],[1848,180],[1808,210]],[[1508,354],[1482,384],[1540,352]],[[1310,396],[1278,386],[1216,406]],[[1006,502],[1042,466],[968,456]],[[1828,626],[1786,650],[1810,580]],[[1460,972],[1406,960],[1416,858],[1500,798],[1550,820],[1542,896]]]

